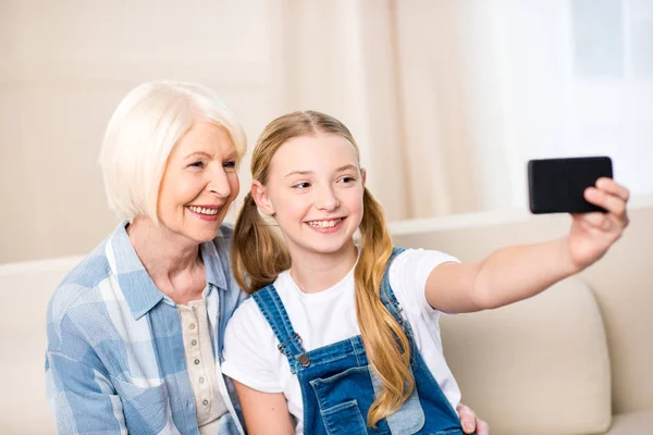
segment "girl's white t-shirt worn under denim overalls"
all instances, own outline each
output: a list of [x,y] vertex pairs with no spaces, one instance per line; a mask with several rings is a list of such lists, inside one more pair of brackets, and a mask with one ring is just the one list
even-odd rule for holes
[[[440,388],[455,409],[460,389],[442,352],[440,312],[429,306],[424,295],[431,271],[444,262],[458,262],[438,251],[407,249],[390,268],[390,285],[412,327],[415,340]],[[354,269],[336,285],[317,294],[303,293],[286,271],[274,282],[293,328],[310,351],[360,335],[356,320]],[[250,388],[283,393],[296,420],[295,432],[304,430],[304,407],[297,375],[291,373],[285,355],[276,345],[268,321],[252,298],[245,300],[231,318],[224,337],[222,372]]]

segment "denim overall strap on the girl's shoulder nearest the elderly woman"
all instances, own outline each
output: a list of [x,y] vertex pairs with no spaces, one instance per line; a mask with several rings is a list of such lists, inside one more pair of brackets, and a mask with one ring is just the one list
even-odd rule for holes
[[299,365],[310,365],[310,360],[301,346],[301,337],[293,330],[288,313],[272,284],[251,295],[259,310],[272,327],[279,340],[279,351],[286,356],[291,372],[297,373]]

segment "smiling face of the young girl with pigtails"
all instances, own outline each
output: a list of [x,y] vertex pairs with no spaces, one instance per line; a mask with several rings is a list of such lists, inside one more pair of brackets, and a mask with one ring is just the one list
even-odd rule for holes
[[293,138],[272,158],[268,185],[257,183],[254,197],[279,223],[294,258],[344,252],[353,244],[362,220],[365,173],[347,139]]

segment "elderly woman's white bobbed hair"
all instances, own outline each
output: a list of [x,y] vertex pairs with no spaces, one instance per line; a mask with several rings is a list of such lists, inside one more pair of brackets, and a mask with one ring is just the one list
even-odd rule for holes
[[247,139],[243,127],[210,89],[183,82],[141,84],[120,102],[109,121],[100,167],[109,207],[133,222],[146,215],[155,223],[159,187],[168,158],[193,123],[209,121],[224,127],[236,148],[238,161]]

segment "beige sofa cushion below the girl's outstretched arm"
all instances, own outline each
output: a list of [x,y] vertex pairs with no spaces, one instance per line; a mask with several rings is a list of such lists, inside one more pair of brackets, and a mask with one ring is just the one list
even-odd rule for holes
[[441,327],[463,402],[493,433],[592,434],[609,426],[605,332],[579,278],[497,310],[443,316]]

